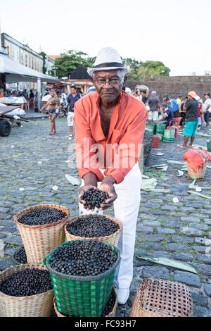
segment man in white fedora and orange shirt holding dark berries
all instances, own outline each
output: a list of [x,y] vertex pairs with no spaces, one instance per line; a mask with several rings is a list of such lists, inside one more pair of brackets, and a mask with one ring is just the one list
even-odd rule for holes
[[[136,222],[141,201],[139,155],[147,111],[134,96],[122,91],[129,67],[110,47],[101,49],[89,75],[96,92],[75,104],[75,149],[79,177],[79,213],[103,213],[114,204],[115,218],[122,221],[118,247],[120,265],[115,275],[119,304],[125,304],[133,277]],[[84,192],[90,187],[108,194],[94,211],[87,210]],[[88,208],[88,207],[87,207]]]

